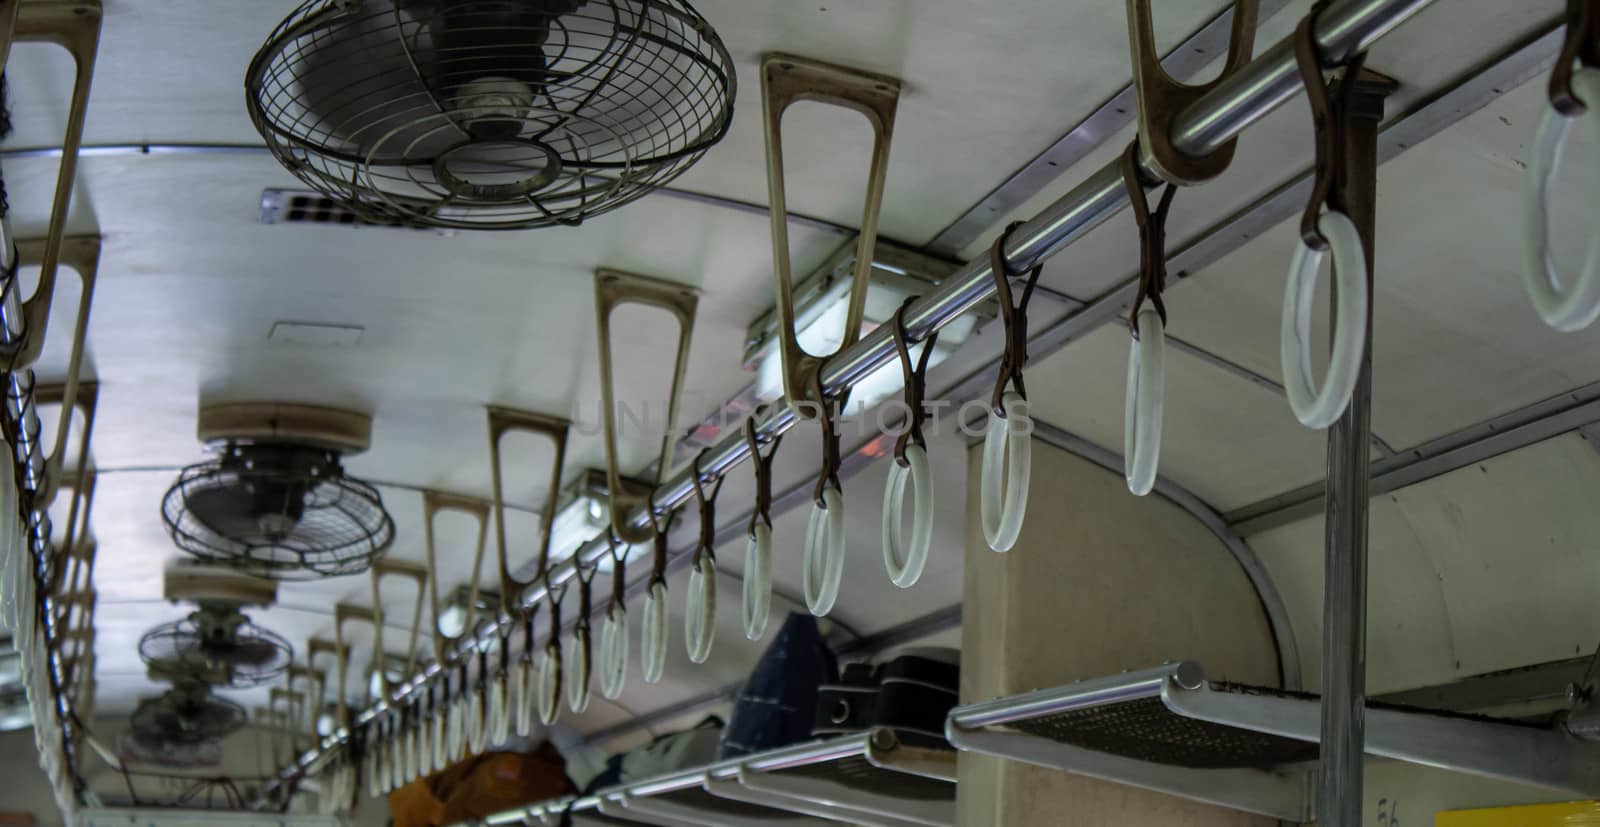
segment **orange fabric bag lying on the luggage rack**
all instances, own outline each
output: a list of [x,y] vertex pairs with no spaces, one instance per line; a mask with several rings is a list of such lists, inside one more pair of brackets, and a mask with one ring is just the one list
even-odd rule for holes
[[574,792],[555,747],[491,752],[389,793],[394,827],[445,827]]

